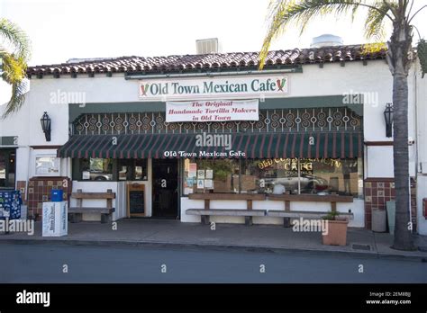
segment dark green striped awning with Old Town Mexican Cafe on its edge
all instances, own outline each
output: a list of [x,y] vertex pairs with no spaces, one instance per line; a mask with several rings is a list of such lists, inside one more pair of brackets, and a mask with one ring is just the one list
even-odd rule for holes
[[[352,158],[362,156],[361,132],[228,133],[229,147],[200,147],[196,135],[75,135],[59,148],[59,157],[105,158]],[[220,134],[208,134],[218,136]],[[206,143],[206,142],[204,142]],[[229,149],[230,148],[230,149]]]

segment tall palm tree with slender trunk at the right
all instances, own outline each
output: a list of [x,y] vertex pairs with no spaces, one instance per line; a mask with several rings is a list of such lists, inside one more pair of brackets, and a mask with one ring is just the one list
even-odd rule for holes
[[[419,0],[417,0],[418,2]],[[277,0],[269,5],[268,32],[259,54],[259,69],[264,66],[268,49],[286,27],[295,24],[303,32],[315,17],[335,13],[352,17],[361,8],[367,11],[365,36],[378,39],[385,35],[385,24],[393,31],[386,42],[386,59],[393,76],[394,103],[394,165],[395,165],[395,240],[393,248],[413,250],[412,227],[409,227],[409,159],[408,159],[408,73],[412,60],[413,17],[427,5],[413,12],[414,0]],[[384,38],[384,37],[383,37]],[[377,45],[378,46],[378,45]],[[425,41],[420,40],[419,55],[425,71]],[[411,225],[412,226],[412,225]]]

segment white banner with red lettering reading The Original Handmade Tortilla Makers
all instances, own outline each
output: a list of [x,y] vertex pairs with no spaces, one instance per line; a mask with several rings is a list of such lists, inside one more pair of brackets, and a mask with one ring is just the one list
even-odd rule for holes
[[166,121],[259,121],[259,101],[167,102]]

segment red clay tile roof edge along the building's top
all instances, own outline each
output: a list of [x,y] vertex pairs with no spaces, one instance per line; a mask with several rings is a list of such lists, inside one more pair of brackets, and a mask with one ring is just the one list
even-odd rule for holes
[[[121,57],[86,60],[28,67],[28,76],[95,74],[95,73],[170,73],[186,71],[227,70],[239,67],[258,67],[258,52],[233,52],[168,57]],[[268,53],[266,67],[300,65],[326,62],[345,62],[386,58],[386,49],[363,54],[361,45],[323,47],[318,49],[276,50]]]

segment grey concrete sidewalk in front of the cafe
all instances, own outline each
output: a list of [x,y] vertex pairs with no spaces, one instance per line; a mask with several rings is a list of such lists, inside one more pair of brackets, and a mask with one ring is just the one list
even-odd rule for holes
[[61,243],[96,246],[194,246],[243,248],[250,250],[291,250],[341,253],[356,256],[392,257],[427,260],[427,237],[415,237],[422,251],[397,251],[390,248],[393,237],[363,228],[349,228],[347,246],[323,246],[321,233],[294,232],[281,226],[236,224],[210,226],[181,223],[176,220],[122,219],[117,230],[111,224],[96,222],[68,223],[68,236],[41,237],[41,222],[35,223],[33,236],[26,233],[0,234],[0,243]]

